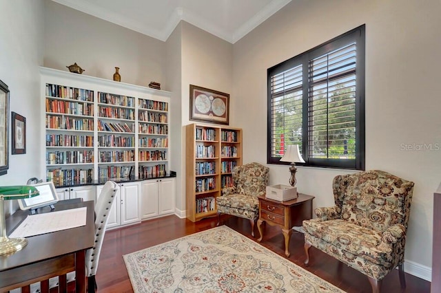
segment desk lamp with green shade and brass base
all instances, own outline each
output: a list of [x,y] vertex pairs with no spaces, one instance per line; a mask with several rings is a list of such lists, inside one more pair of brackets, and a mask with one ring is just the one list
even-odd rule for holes
[[0,255],[12,254],[28,244],[28,239],[8,238],[6,235],[4,200],[30,198],[39,194],[34,186],[0,186]]

